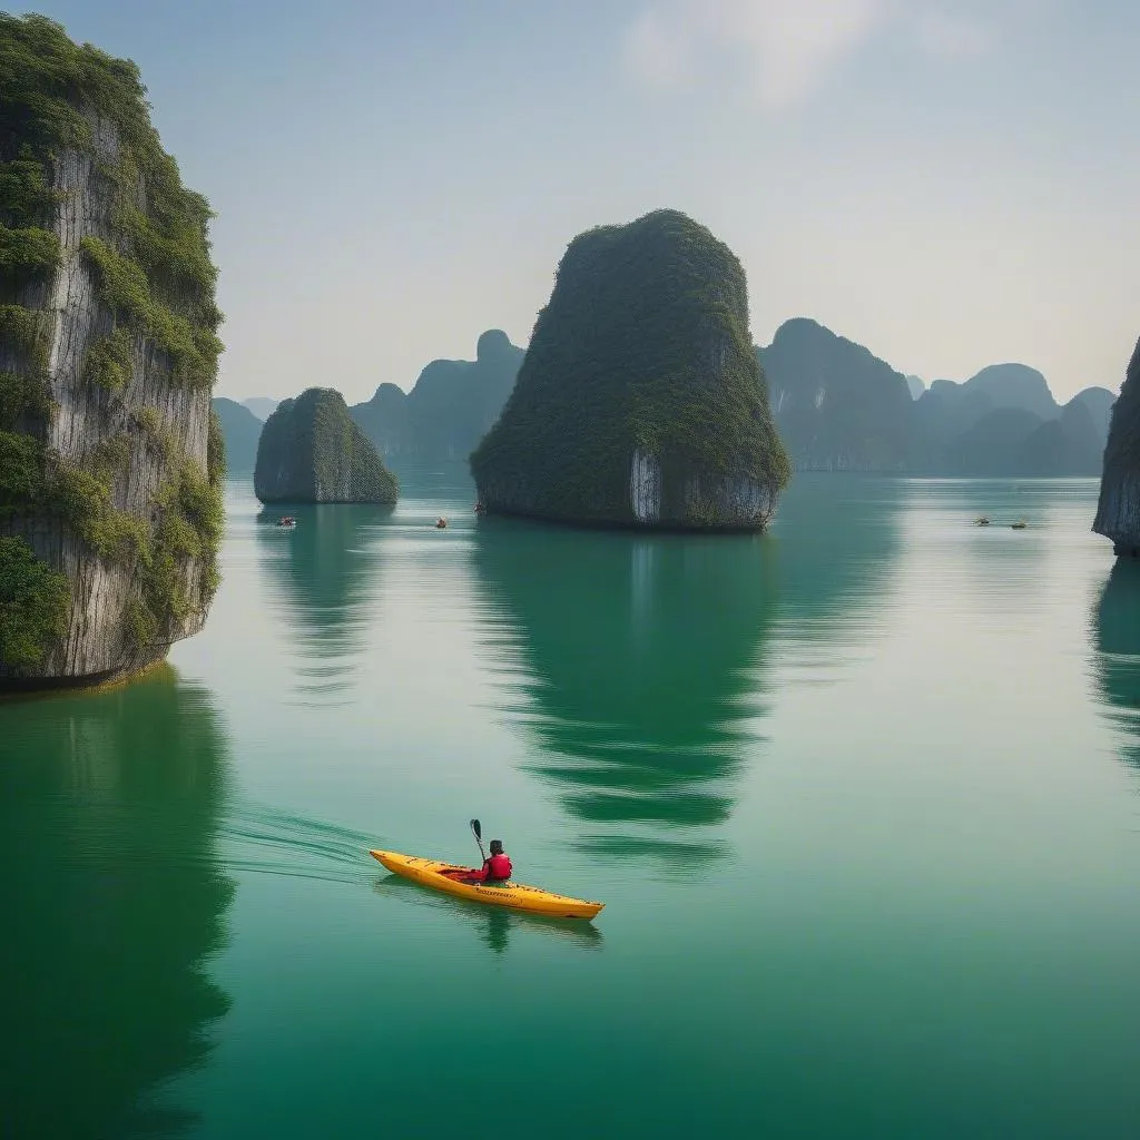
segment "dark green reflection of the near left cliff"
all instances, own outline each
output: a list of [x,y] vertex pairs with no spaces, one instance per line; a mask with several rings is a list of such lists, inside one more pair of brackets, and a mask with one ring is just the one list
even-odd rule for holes
[[194,1117],[161,1085],[203,1062],[229,1007],[206,976],[233,896],[210,697],[162,668],[0,720],[0,1133],[180,1134]]

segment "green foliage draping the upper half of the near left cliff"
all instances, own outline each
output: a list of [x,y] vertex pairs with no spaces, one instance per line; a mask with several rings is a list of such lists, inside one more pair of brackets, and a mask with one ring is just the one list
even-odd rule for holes
[[[138,67],[73,43],[43,16],[0,15],[0,120],[9,124],[0,138],[5,285],[10,288],[17,272],[54,268],[58,239],[42,228],[58,204],[49,189],[52,163],[65,148],[88,154],[113,198],[114,247],[96,237],[83,241],[104,302],[115,320],[127,320],[170,355],[177,378],[211,385],[221,314],[206,237],[210,205],[182,186],[178,164],[163,150]],[[100,149],[100,119],[115,128],[113,161]]]

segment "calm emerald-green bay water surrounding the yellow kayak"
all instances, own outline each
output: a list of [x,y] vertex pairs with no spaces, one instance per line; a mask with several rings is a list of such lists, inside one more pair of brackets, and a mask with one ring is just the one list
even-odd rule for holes
[[[1138,1134],[1140,572],[1093,481],[800,475],[715,539],[404,481],[292,534],[233,484],[169,668],[0,703],[0,1135]],[[472,815],[596,923],[365,854]]]

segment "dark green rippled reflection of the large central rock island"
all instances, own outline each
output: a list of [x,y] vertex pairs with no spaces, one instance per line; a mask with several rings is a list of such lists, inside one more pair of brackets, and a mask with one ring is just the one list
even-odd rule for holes
[[602,829],[583,840],[589,850],[675,865],[723,853],[690,829],[732,811],[759,711],[746,670],[772,622],[771,553],[754,536],[480,526],[474,559],[497,630],[486,644],[500,667],[507,633],[526,662],[503,675],[502,709],[538,735],[531,771]]

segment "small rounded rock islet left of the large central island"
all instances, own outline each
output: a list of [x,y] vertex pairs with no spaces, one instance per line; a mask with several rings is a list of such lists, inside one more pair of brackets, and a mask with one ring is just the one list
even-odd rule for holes
[[310,388],[266,421],[253,490],[262,503],[394,503],[399,486],[344,397]]

